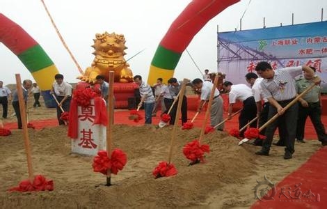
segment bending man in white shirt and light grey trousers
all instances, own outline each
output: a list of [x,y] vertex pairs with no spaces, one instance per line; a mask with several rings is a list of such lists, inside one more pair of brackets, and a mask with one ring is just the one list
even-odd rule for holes
[[[192,84],[197,89],[201,89],[201,101],[198,107],[198,112],[200,112],[205,101],[209,100],[210,93],[212,92],[212,86],[214,86],[214,84],[209,81],[202,82],[202,80],[199,78],[194,79]],[[219,91],[216,88],[214,92],[214,98],[212,100],[212,108],[210,109],[210,125],[214,127],[218,123],[221,123],[221,121],[223,121],[223,99],[221,98]],[[224,124],[221,124],[216,127],[216,130],[223,131],[223,127]]]

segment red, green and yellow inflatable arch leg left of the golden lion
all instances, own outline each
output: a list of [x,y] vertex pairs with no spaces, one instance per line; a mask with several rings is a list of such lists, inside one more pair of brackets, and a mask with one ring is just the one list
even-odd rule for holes
[[21,26],[0,13],[0,42],[13,52],[31,72],[35,82],[40,86],[46,107],[56,107],[49,95],[58,72],[56,65],[47,53]]

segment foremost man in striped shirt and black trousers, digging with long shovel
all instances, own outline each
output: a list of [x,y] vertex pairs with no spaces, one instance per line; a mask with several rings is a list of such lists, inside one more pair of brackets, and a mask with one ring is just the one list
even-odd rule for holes
[[[276,71],[271,68],[271,65],[267,62],[260,62],[257,64],[255,70],[257,74],[264,79],[261,82],[262,92],[264,98],[267,98],[271,104],[269,107],[268,118],[272,118],[274,115],[279,114],[280,120],[285,121],[285,155],[284,159],[291,159],[294,153],[294,140],[296,134],[296,120],[298,117],[298,103],[294,103],[289,109],[284,109],[287,104],[292,102],[296,96],[294,77],[301,75],[302,70],[314,77],[314,71],[308,66],[299,66],[292,68],[283,68]],[[319,82],[317,77],[314,82]],[[262,144],[262,149],[258,151],[257,155],[269,155],[271,142],[273,141],[273,134],[278,127],[278,121],[273,121],[268,127],[266,127],[266,139]]]

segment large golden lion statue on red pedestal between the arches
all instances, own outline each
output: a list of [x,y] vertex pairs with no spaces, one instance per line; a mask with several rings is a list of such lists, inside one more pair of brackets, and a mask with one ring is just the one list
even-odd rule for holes
[[97,33],[93,39],[95,59],[91,67],[86,68],[83,75],[77,77],[84,82],[95,83],[97,75],[103,75],[108,81],[109,71],[115,72],[115,82],[133,82],[133,73],[125,61],[125,37],[115,33]]

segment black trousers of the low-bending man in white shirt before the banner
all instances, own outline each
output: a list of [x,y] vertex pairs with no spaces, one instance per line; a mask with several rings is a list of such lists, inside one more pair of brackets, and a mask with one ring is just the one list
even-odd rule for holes
[[[248,124],[248,122],[252,121],[253,118],[257,116],[257,105],[255,104],[255,98],[249,97],[243,101],[243,109],[241,114],[239,114],[239,129],[244,127],[244,125]],[[250,124],[250,127],[257,127],[257,121],[254,121]],[[240,137],[244,137],[243,130],[239,133]]]

